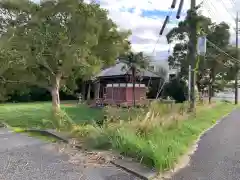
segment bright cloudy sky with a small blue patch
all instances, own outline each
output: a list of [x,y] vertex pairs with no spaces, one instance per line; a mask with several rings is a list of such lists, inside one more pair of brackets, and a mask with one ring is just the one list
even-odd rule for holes
[[[197,4],[203,1],[200,12],[211,17],[219,23],[227,22],[231,26],[231,42],[234,43],[234,18],[240,0],[197,0]],[[143,51],[154,56],[157,61],[166,60],[169,55],[169,45],[166,41],[166,34],[183,20],[187,9],[190,8],[190,0],[184,1],[183,12],[180,20],[176,19],[176,9],[172,12],[170,23],[167,25],[164,34],[160,37],[155,47],[160,28],[164,18],[169,13],[172,0],[97,0],[101,7],[109,10],[109,16],[123,29],[130,29],[132,35],[130,41],[134,51]],[[180,0],[177,0],[177,7]],[[170,51],[171,52],[171,51]]]

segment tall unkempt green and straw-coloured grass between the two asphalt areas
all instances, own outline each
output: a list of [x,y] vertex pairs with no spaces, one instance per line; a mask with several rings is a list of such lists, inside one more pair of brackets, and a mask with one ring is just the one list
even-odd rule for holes
[[187,113],[186,104],[173,106],[153,102],[144,115],[132,120],[106,121],[92,126],[87,140],[95,148],[111,148],[141,163],[165,171],[174,166],[179,157],[202,131],[210,127],[234,106],[220,103],[203,108],[196,116]]

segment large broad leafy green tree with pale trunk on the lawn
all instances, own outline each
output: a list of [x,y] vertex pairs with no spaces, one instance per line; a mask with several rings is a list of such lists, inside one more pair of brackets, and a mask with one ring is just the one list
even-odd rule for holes
[[5,12],[0,15],[2,48],[17,52],[24,64],[19,82],[47,89],[54,112],[60,108],[60,88],[115,63],[128,49],[129,32],[119,31],[95,3],[4,0],[0,11]]

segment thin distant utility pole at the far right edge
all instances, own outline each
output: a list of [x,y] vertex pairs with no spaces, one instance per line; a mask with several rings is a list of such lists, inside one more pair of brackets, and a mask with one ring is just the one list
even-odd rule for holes
[[[238,17],[238,12],[236,15],[236,59],[238,59],[239,57],[239,53],[238,53],[238,23],[239,23],[239,17]],[[238,63],[235,63],[235,67],[236,67],[236,75],[235,75],[235,104],[238,104],[238,71],[239,71],[239,67],[238,67]]]

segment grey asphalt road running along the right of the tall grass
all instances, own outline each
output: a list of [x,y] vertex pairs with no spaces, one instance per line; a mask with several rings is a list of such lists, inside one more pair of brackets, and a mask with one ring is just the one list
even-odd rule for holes
[[240,179],[240,110],[220,121],[205,133],[189,166],[172,180]]

